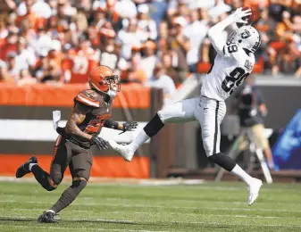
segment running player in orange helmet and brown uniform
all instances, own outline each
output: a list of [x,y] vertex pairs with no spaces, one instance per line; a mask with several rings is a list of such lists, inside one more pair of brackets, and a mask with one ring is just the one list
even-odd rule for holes
[[91,145],[96,145],[100,151],[108,148],[108,143],[98,137],[102,127],[123,132],[137,128],[138,124],[134,120],[118,123],[110,119],[113,98],[121,87],[118,76],[111,68],[105,65],[96,67],[90,72],[88,83],[91,89],[79,92],[74,98],[74,107],[65,128],[56,129],[60,136],[54,145],[50,173],[38,166],[35,156],[16,171],[16,178],[32,172],[41,186],[47,191],[53,191],[62,182],[67,166],[71,170],[72,185],[63,192],[54,206],[39,216],[39,222],[56,222],[54,215],[72,203],[87,185],[92,166]]

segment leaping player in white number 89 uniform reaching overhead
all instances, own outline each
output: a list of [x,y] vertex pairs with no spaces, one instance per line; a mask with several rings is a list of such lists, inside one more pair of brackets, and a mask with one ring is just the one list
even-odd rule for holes
[[[118,145],[114,141],[108,141],[113,149],[130,162],[138,146],[154,137],[164,124],[198,120],[202,127],[203,144],[208,159],[245,181],[248,188],[247,203],[253,204],[263,182],[252,178],[234,160],[220,151],[220,125],[226,113],[224,101],[253,70],[254,53],[261,43],[258,31],[247,25],[247,21],[243,19],[251,14],[250,9],[239,8],[209,29],[208,37],[217,55],[203,81],[199,97],[167,105],[155,114],[130,145]],[[224,41],[221,37],[222,31],[233,23],[245,25],[234,30],[227,41]]]

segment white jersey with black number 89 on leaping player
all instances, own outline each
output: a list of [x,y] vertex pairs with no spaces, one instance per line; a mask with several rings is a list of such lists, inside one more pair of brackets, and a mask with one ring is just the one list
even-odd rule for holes
[[237,43],[227,42],[223,54],[215,56],[201,89],[201,95],[217,101],[226,100],[247,78],[255,64],[254,54],[247,54]]

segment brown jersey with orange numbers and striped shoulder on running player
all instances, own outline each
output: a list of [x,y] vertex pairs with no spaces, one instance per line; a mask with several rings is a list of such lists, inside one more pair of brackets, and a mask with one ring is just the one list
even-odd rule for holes
[[[86,114],[85,120],[80,123],[79,129],[89,135],[99,134],[106,119],[111,118],[112,104],[104,100],[104,95],[99,95],[93,89],[86,89],[74,98],[75,104],[84,104],[91,110]],[[72,143],[89,147],[91,144],[87,141],[80,141],[77,137],[68,138]]]

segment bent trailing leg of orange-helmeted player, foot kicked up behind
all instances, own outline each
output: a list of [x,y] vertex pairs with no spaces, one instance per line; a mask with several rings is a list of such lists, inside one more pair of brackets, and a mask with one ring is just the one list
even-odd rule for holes
[[68,165],[65,139],[58,137],[54,145],[53,161],[51,162],[50,175],[38,165],[38,159],[32,156],[16,172],[16,177],[21,178],[32,172],[38,183],[47,191],[52,191],[62,182],[63,172]]

